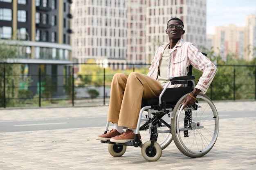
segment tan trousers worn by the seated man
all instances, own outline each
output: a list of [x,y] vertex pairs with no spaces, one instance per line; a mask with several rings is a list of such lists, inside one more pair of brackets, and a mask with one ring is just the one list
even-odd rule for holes
[[114,75],[110,89],[108,119],[118,126],[136,129],[142,99],[157,98],[161,83],[141,73]]

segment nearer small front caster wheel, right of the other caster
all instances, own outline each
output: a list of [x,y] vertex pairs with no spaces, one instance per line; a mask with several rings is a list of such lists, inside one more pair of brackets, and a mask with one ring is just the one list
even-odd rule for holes
[[151,144],[151,141],[146,141],[142,145],[141,155],[147,161],[157,161],[162,155],[162,148],[157,142],[154,142],[153,149],[152,151],[150,151],[150,144]]

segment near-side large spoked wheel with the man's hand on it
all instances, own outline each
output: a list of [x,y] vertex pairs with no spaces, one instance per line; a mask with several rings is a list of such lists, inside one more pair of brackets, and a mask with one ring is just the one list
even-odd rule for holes
[[180,109],[184,95],[173,109],[171,133],[177,148],[188,157],[202,157],[215,144],[219,132],[218,112],[209,97],[200,93],[192,107]]

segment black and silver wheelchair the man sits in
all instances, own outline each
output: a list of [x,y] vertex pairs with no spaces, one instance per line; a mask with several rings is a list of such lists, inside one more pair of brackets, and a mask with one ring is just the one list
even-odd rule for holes
[[[193,75],[171,77],[158,99],[142,101],[134,140],[126,143],[101,141],[109,144],[110,155],[121,157],[126,152],[126,146],[139,146],[144,159],[157,161],[171,141],[188,157],[206,155],[217,140],[219,117],[213,102],[203,93],[199,93],[192,106],[182,105],[184,98],[195,87],[193,79]],[[167,88],[169,84],[186,86]],[[104,133],[107,133],[109,124],[107,122]]]

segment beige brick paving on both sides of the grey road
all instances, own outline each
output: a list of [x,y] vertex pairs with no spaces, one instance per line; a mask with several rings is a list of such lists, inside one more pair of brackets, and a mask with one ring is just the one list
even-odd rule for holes
[[[214,102],[218,111],[255,110],[253,102]],[[106,116],[108,106],[0,109],[0,121]],[[0,133],[0,170],[255,170],[256,117],[220,119],[213,149],[204,157],[183,155],[174,142],[155,162],[128,146],[112,157],[108,145],[95,140],[104,127]]]

